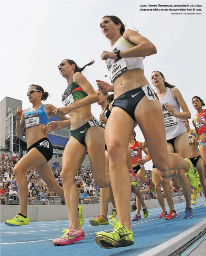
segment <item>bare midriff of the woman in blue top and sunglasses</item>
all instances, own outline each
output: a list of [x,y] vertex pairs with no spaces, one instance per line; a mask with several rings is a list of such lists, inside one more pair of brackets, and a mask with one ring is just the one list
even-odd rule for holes
[[39,124],[26,129],[26,146],[29,148],[42,138],[47,138],[46,131],[43,130],[45,124]]

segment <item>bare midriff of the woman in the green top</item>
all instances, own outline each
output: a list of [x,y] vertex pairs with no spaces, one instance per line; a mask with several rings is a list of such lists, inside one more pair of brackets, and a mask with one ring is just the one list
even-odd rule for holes
[[[78,102],[82,99],[74,100]],[[69,113],[70,121],[71,121],[71,130],[76,130],[82,125],[86,124],[90,121],[94,116],[92,115],[91,105],[84,106],[81,108],[76,108]]]

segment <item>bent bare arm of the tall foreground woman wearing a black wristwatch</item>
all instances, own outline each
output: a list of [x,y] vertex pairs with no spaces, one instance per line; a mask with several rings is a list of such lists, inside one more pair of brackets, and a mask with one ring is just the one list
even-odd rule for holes
[[127,29],[123,37],[132,44],[136,44],[136,46],[121,51],[120,57],[122,58],[146,57],[157,53],[154,44],[134,30]]

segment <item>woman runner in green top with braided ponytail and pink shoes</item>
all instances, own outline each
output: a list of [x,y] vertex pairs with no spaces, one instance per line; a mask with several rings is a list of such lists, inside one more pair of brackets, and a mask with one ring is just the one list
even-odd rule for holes
[[[85,238],[80,228],[78,218],[78,189],[75,175],[88,152],[94,181],[99,187],[110,186],[109,175],[106,176],[106,160],[104,147],[104,128],[92,115],[91,104],[99,101],[98,94],[85,76],[81,74],[86,66],[79,68],[73,60],[64,59],[58,69],[66,78],[67,88],[62,94],[64,107],[56,110],[57,116],[70,114],[70,139],[62,156],[62,171],[60,176],[64,184],[65,202],[69,217],[69,228],[63,230],[64,235],[53,241],[56,245],[67,245]],[[58,130],[68,126],[68,121],[50,122],[51,130]]]

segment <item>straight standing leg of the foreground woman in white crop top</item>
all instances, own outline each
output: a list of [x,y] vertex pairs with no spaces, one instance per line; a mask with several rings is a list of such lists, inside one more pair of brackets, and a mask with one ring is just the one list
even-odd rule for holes
[[[126,126],[122,125],[122,120]],[[118,222],[131,230],[131,180],[127,166],[128,145],[134,130],[134,120],[121,108],[114,107],[105,128],[109,156],[110,180],[118,213]],[[124,187],[124,189],[122,189]]]

